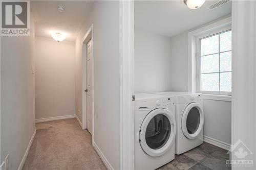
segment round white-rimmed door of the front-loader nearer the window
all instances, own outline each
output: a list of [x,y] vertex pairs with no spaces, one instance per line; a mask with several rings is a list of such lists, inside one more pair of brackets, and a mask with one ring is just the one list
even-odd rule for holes
[[188,139],[195,139],[204,125],[204,113],[199,103],[190,103],[181,118],[181,129]]

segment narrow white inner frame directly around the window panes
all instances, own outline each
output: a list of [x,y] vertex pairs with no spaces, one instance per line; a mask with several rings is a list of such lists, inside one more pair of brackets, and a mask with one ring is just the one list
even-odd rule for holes
[[[203,94],[231,95],[231,91],[202,91],[201,90],[201,54],[200,54],[200,39],[213,36],[222,32],[231,30],[231,25],[218,28],[214,31],[200,34],[196,37],[196,92]],[[220,82],[219,82],[220,83]]]

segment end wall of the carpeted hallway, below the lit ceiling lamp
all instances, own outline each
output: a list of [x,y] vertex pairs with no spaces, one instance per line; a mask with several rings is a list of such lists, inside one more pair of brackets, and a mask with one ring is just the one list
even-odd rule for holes
[[75,114],[75,43],[35,37],[36,119]]

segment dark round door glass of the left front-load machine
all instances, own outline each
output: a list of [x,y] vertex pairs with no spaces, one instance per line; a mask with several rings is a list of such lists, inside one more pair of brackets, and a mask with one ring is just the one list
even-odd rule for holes
[[162,148],[170,137],[170,131],[169,119],[163,114],[155,115],[146,128],[146,144],[154,150]]

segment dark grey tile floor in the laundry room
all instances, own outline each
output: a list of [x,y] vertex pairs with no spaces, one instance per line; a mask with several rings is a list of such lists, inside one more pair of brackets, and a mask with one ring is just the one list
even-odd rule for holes
[[175,159],[158,170],[224,170],[231,169],[226,166],[229,154],[226,150],[204,142],[199,147],[181,155],[175,155]]

